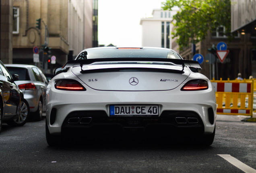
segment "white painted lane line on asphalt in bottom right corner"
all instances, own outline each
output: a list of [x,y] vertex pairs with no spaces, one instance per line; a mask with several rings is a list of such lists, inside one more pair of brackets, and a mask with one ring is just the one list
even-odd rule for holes
[[228,161],[229,163],[231,163],[232,165],[234,165],[235,167],[241,169],[245,173],[256,173],[255,169],[235,159],[235,157],[232,157],[231,155],[219,155],[219,156],[225,159],[226,161]]

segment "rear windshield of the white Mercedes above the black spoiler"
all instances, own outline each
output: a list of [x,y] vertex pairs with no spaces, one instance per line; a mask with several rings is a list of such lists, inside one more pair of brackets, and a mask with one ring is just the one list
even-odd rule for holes
[[170,49],[138,48],[138,49],[118,49],[102,48],[91,49],[82,52],[76,58],[95,59],[95,58],[171,58],[182,59],[181,56]]

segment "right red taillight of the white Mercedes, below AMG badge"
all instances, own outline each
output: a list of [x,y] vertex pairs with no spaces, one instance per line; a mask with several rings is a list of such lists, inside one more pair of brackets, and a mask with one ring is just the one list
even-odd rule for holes
[[208,89],[208,82],[206,80],[190,80],[182,87],[181,91],[199,91]]

